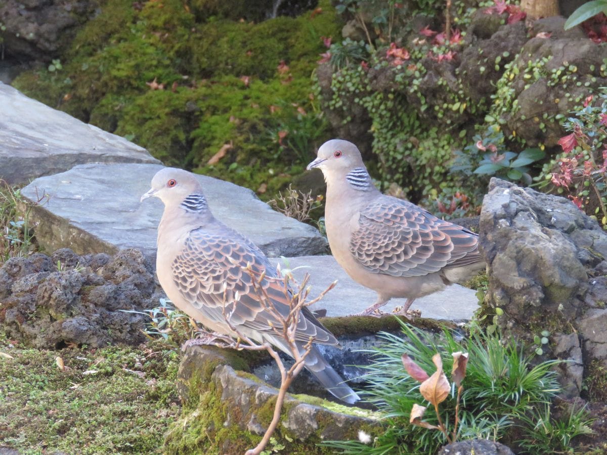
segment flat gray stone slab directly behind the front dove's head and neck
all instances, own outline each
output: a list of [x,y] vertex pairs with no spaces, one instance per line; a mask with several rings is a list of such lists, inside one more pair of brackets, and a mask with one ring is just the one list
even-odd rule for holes
[[[61,174],[40,177],[22,189],[33,207],[36,239],[46,252],[71,248],[76,254],[138,248],[156,254],[156,229],[163,204],[140,202],[157,164],[81,164]],[[321,254],[327,241],[316,228],[274,211],[253,191],[198,175],[214,215],[247,235],[268,256]]]

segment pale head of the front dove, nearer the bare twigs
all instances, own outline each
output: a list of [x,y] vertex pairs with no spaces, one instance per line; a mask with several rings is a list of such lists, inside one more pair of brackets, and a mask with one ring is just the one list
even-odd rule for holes
[[164,205],[172,206],[182,204],[192,195],[202,196],[200,183],[187,170],[165,167],[159,170],[152,178],[152,188],[143,196],[141,201],[155,196],[163,201]]

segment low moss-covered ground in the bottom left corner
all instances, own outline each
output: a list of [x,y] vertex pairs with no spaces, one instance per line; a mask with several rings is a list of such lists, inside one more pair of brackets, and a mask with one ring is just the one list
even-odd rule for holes
[[161,453],[180,412],[177,368],[166,343],[47,351],[0,338],[0,447]]

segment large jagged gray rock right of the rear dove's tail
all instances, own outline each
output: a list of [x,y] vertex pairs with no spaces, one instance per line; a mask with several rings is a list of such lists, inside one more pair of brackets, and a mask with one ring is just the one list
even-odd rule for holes
[[607,365],[607,234],[571,201],[497,178],[480,234],[488,300],[504,311],[498,323],[531,344],[543,330],[563,331],[544,356],[572,361],[558,368],[565,395],[575,396],[584,365]]

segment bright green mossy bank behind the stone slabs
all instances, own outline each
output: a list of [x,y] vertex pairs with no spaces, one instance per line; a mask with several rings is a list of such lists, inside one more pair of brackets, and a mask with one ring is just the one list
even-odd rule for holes
[[[14,84],[165,164],[263,185],[270,198],[327,139],[310,75],[325,49],[320,37],[338,36],[340,24],[328,0],[319,6],[320,14],[253,23],[238,20],[253,11],[240,0],[106,0],[61,57],[62,70],[25,72]],[[228,155],[209,166],[224,144]]]

